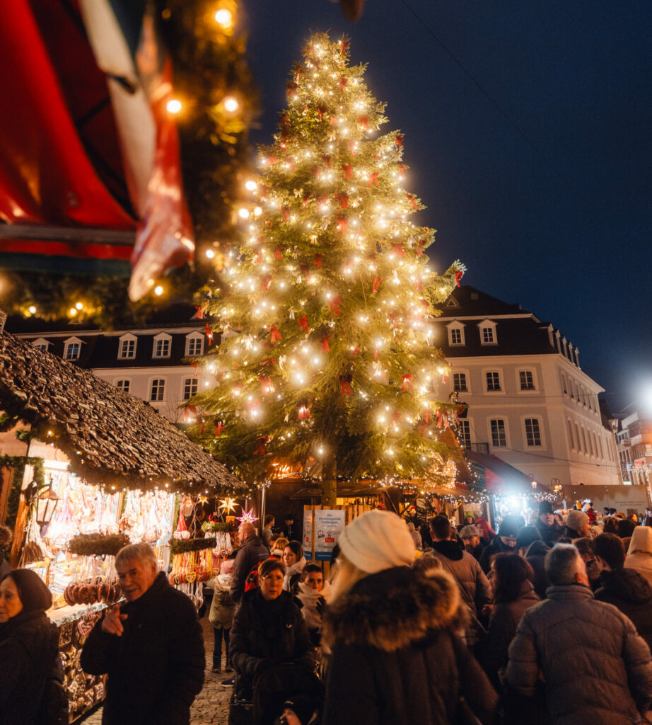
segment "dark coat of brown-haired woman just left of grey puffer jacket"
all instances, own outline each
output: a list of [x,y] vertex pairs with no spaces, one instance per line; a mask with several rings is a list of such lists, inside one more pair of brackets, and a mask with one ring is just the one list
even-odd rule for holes
[[500,602],[491,612],[487,636],[482,640],[480,661],[494,687],[498,687],[498,671],[507,664],[507,650],[514,639],[519,621],[530,607],[540,602],[530,581],[524,581],[518,599]]

